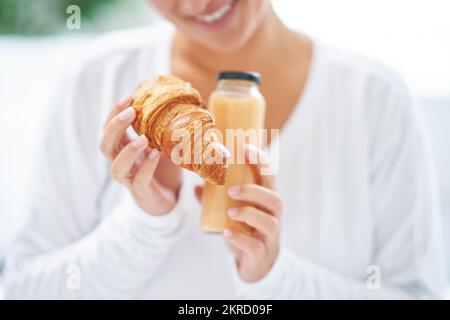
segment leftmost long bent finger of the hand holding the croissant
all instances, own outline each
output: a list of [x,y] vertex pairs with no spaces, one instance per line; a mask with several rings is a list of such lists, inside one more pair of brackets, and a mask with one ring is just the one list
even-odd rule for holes
[[113,160],[120,152],[120,144],[123,142],[123,138],[126,137],[126,130],[135,117],[136,111],[134,108],[128,107],[114,116],[107,124],[100,142],[100,150],[109,160]]

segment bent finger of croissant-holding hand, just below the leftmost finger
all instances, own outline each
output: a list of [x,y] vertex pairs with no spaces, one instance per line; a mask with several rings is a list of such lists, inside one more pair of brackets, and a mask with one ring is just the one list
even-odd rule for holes
[[127,144],[111,163],[111,177],[120,183],[130,182],[132,178],[131,169],[147,145],[148,140],[144,135]]

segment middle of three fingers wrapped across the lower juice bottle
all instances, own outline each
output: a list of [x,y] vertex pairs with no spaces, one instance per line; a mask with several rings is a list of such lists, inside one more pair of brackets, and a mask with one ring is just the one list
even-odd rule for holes
[[229,209],[228,215],[232,220],[244,222],[265,236],[278,235],[278,219],[264,211],[245,206]]

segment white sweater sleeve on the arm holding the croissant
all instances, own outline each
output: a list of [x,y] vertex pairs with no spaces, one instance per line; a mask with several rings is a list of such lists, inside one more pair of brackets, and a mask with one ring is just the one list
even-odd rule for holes
[[136,297],[157,274],[183,224],[185,182],[166,216],[142,212],[124,190],[123,199],[100,217],[101,195],[112,182],[98,150],[101,81],[95,66],[88,67],[89,76],[77,69],[53,96],[24,199],[30,201],[29,221],[6,259],[7,298]]

